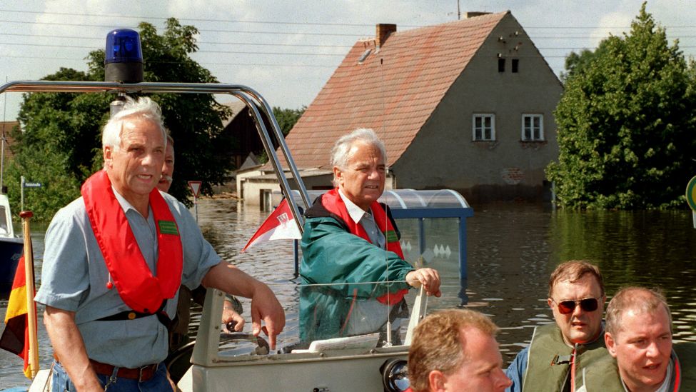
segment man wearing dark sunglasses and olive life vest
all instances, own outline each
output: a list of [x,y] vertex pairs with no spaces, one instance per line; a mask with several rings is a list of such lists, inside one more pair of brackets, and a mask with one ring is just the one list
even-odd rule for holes
[[[594,374],[592,363],[609,358],[602,327],[605,301],[597,266],[560,264],[549,278],[547,300],[556,322],[535,328],[530,345],[508,367],[513,385],[507,391],[585,391],[583,380]],[[618,388],[614,381],[605,391],[622,391]]]

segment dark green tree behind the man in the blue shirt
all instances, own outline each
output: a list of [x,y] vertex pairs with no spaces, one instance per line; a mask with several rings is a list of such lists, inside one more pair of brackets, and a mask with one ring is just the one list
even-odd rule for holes
[[[210,71],[193,61],[189,54],[197,50],[193,26],[181,26],[168,19],[162,35],[154,26],[139,24],[144,59],[144,79],[160,82],[215,83]],[[60,69],[46,80],[104,80],[104,50],[88,56],[89,71]],[[201,193],[212,194],[212,186],[226,180],[231,161],[222,154],[226,145],[218,143],[223,131],[222,119],[229,115],[225,106],[210,94],[153,94],[160,104],[165,125],[176,146],[175,181],[170,192],[190,204],[186,180],[203,181]],[[19,201],[19,176],[31,181],[46,176],[46,186],[36,192],[37,200],[29,207],[39,219],[49,219],[57,208],[79,195],[79,184],[101,168],[101,128],[109,118],[113,94],[26,94],[19,120],[24,131],[15,134],[19,141],[16,159],[8,170],[9,196]],[[35,161],[35,159],[39,159]],[[50,164],[36,165],[44,159]],[[65,181],[53,178],[65,177]],[[14,181],[14,183],[12,182]],[[60,183],[61,187],[51,184]],[[56,184],[57,185],[57,184]],[[16,186],[16,188],[15,188]],[[39,201],[38,199],[46,200]],[[50,201],[50,202],[49,202]],[[19,208],[16,208],[18,211]]]

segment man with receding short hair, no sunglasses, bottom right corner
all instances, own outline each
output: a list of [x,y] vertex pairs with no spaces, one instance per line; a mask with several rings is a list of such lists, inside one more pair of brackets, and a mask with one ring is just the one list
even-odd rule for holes
[[672,315],[662,293],[641,287],[616,293],[607,307],[605,341],[616,358],[605,377],[618,371],[626,391],[696,391],[696,343],[672,345]]

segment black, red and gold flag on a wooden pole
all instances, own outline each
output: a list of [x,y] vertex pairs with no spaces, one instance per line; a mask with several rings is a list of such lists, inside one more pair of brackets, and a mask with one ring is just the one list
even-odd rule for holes
[[[36,309],[36,303],[34,303]],[[17,272],[14,274],[12,291],[7,302],[5,330],[0,336],[0,348],[24,359],[24,376],[31,378],[29,368],[29,311],[26,307],[26,274],[24,273],[24,256],[19,258]],[[34,312],[36,315],[36,312]],[[34,323],[36,325],[36,321]]]

